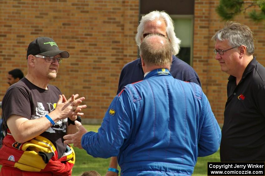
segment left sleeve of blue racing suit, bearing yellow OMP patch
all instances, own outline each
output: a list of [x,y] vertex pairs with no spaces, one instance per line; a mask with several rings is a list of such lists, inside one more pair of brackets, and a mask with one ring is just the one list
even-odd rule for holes
[[93,157],[117,156],[131,129],[132,102],[123,91],[111,102],[98,133],[83,135],[81,145]]

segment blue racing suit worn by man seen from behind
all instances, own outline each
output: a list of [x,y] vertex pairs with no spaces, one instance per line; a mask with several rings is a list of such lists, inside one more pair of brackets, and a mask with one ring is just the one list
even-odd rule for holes
[[89,155],[118,156],[122,175],[191,175],[215,153],[221,131],[200,86],[152,70],[113,99],[98,133],[83,135]]

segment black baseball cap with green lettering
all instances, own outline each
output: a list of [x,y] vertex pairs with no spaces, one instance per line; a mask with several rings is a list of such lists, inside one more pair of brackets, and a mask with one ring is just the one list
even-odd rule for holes
[[27,59],[29,55],[56,56],[60,54],[62,58],[69,58],[67,51],[59,50],[55,41],[50,37],[38,37],[28,45]]

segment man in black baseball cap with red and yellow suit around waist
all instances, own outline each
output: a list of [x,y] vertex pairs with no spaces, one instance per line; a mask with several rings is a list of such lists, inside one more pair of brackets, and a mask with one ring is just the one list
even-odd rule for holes
[[63,136],[77,131],[74,121],[81,121],[86,105],[80,105],[84,97],[75,94],[67,100],[59,88],[49,84],[62,58],[68,57],[49,37],[38,37],[29,44],[27,74],[10,86],[2,100],[6,136],[0,148],[0,176],[71,175],[75,155],[63,143]]

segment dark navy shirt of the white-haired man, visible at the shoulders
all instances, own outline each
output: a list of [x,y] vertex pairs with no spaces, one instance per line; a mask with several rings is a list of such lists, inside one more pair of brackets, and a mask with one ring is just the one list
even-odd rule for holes
[[[181,81],[188,81],[196,83],[201,86],[200,79],[195,70],[183,60],[172,55],[172,65],[170,69],[170,74]],[[117,94],[123,89],[127,84],[135,83],[143,80],[144,73],[142,70],[141,58],[138,58],[128,64],[124,65],[119,80],[119,86]]]

